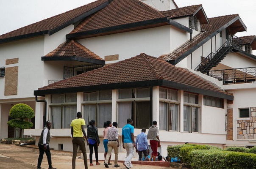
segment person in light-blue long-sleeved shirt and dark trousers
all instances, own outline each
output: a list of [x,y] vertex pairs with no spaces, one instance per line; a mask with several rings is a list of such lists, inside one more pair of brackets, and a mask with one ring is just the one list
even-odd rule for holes
[[141,134],[136,137],[136,152],[139,155],[139,161],[142,161],[142,153],[144,154],[145,158],[144,161],[147,161],[147,151],[149,150],[148,143],[147,143],[147,135],[146,128],[142,128]]

